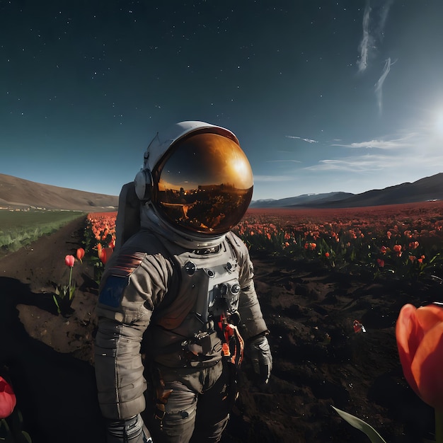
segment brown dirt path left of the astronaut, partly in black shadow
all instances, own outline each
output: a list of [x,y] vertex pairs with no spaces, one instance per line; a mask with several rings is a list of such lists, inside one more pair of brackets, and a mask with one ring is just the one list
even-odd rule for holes
[[82,229],[76,220],[0,260],[0,371],[11,378],[33,443],[104,441],[88,362],[93,322],[81,309],[93,309],[91,270],[74,266],[79,315],[58,316],[49,294],[51,282],[67,283],[64,256],[81,246]]

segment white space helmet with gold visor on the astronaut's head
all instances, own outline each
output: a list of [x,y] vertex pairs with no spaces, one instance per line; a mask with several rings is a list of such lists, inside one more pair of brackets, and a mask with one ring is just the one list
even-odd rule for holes
[[134,185],[145,203],[142,226],[206,247],[240,222],[251,202],[253,174],[231,131],[190,121],[156,134]]

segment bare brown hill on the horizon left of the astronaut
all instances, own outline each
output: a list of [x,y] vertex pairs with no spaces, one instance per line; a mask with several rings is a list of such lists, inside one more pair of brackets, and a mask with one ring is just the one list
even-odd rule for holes
[[115,211],[117,206],[118,196],[115,195],[59,188],[0,174],[0,208],[39,207],[100,212]]

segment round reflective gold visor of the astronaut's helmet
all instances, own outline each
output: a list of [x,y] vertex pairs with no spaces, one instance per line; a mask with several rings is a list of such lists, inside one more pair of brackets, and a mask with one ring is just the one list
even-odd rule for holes
[[153,202],[174,226],[224,234],[240,222],[253,193],[251,166],[240,146],[219,134],[190,135],[153,171]]

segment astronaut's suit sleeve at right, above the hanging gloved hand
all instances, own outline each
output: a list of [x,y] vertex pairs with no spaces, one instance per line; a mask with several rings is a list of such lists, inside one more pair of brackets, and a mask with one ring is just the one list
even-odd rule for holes
[[239,330],[245,340],[255,337],[267,331],[265,320],[260,308],[257,294],[254,286],[254,269],[249,251],[245,243],[235,234],[227,234],[229,241],[236,251],[238,264],[240,266],[239,282],[241,287],[238,312],[240,313],[241,323]]

